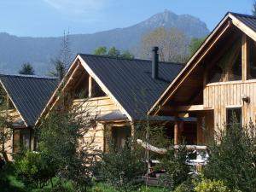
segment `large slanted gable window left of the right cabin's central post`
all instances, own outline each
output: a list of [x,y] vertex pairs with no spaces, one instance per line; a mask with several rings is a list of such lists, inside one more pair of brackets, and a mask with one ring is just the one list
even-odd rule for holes
[[[218,52],[221,52],[221,49]],[[207,83],[241,80],[240,38],[223,54],[215,56],[217,58],[212,58],[212,67],[207,71]]]

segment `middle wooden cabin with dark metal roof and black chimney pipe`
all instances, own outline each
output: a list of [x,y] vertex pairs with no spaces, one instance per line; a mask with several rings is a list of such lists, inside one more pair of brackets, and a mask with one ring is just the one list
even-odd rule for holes
[[[96,127],[84,136],[94,137],[95,149],[106,151],[107,136],[123,146],[133,135],[134,125],[148,119],[149,107],[183,68],[179,63],[158,62],[155,49],[153,54],[154,61],[77,55],[37,124],[58,106],[60,93],[69,93],[73,96],[70,106],[83,103],[86,111],[97,115]],[[149,120],[173,127],[168,124],[173,122],[170,117]]]

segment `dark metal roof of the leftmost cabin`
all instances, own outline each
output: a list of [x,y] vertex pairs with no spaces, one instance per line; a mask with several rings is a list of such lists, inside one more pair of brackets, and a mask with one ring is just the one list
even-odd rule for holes
[[55,78],[30,75],[0,74],[0,81],[28,126],[35,125],[57,85]]

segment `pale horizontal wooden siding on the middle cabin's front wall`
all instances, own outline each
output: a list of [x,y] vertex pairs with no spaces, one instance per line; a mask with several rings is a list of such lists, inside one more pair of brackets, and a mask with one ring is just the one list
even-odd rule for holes
[[[85,113],[97,116],[119,110],[108,96],[73,101],[73,106],[79,105],[82,106]],[[90,128],[84,135],[84,139],[89,143],[93,139],[92,147],[97,150],[104,150],[104,125],[97,123],[96,127]]]

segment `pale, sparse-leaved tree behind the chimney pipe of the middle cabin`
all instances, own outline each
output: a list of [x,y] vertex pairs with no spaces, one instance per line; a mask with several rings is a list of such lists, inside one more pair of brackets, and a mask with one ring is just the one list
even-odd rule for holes
[[188,57],[188,39],[176,28],[160,27],[143,36],[141,56],[148,59],[151,49],[159,47],[160,61],[184,62]]

